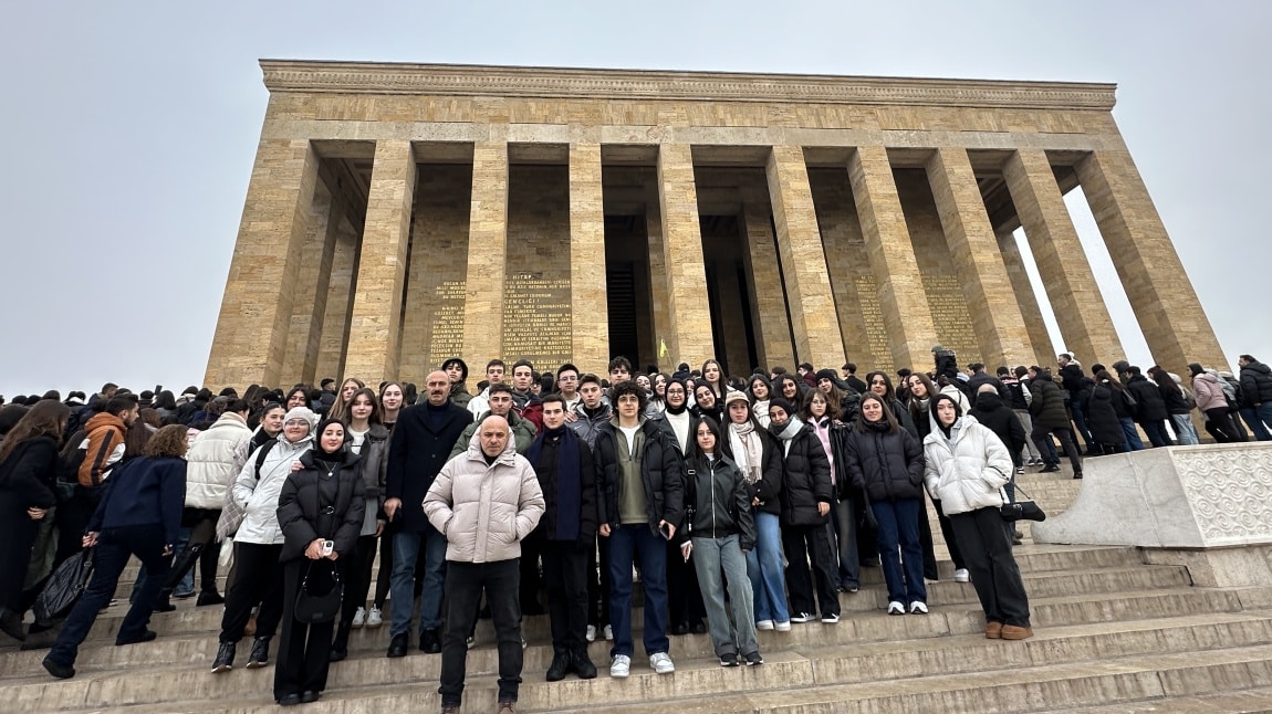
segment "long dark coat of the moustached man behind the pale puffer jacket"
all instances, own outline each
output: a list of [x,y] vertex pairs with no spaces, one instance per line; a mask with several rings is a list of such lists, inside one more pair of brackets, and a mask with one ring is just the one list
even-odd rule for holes
[[[472,409],[472,403],[468,408]],[[421,508],[424,494],[429,493],[432,479],[450,459],[455,440],[473,422],[469,410],[448,401],[441,418],[434,424],[429,419],[429,409],[430,404],[403,409],[389,438],[384,498],[402,502],[393,520],[401,530],[408,532],[421,532],[429,527],[429,520]]]

